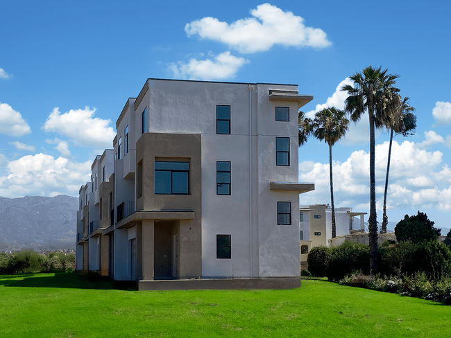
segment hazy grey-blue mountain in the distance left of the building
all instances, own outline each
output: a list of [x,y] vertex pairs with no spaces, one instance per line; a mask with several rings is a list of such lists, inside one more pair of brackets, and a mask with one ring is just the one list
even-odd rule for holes
[[78,198],[0,197],[0,251],[75,249]]

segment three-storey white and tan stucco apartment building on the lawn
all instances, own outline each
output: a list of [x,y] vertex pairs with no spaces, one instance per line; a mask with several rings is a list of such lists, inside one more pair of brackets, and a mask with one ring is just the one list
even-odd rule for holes
[[312,98],[291,84],[146,80],[80,188],[76,269],[139,290],[300,285],[298,195],[314,184],[298,182],[298,109]]

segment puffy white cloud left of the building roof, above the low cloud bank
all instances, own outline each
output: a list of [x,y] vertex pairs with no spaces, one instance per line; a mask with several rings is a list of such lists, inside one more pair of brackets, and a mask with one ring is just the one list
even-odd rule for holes
[[69,110],[61,114],[58,107],[53,108],[49,118],[44,123],[46,132],[58,132],[75,143],[85,147],[110,148],[116,133],[109,127],[110,120],[93,118],[96,109]]

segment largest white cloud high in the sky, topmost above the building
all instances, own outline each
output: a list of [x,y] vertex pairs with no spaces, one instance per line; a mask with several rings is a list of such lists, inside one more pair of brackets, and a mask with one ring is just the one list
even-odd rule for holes
[[188,37],[212,39],[235,48],[240,53],[268,51],[273,45],[323,48],[330,46],[320,28],[306,27],[304,19],[293,12],[284,12],[264,3],[250,10],[253,17],[228,24],[213,17],[204,17],[186,24]]

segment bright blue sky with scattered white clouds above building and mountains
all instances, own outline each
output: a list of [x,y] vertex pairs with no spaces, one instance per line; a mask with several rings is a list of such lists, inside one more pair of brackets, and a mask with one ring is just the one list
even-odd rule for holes
[[[78,195],[146,78],[298,84],[321,107],[364,67],[400,75],[416,135],[396,136],[389,220],[451,215],[451,3],[447,1],[3,1],[0,195]],[[337,206],[369,209],[368,116],[333,148]],[[377,135],[377,202],[388,134]],[[330,203],[328,149],[299,149],[302,204]]]

